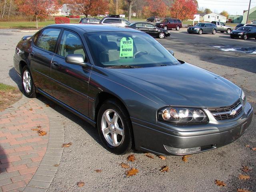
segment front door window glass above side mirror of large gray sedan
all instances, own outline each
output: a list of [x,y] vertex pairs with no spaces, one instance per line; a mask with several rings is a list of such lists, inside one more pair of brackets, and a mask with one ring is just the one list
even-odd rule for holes
[[58,54],[63,57],[66,57],[70,54],[82,54],[85,58],[83,44],[78,35],[73,32],[64,30],[60,40],[60,48]]

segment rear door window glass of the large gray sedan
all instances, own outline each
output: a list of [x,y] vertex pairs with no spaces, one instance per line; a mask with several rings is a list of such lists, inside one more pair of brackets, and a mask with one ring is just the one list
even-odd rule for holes
[[44,50],[55,52],[55,45],[57,43],[60,29],[47,28],[38,37],[36,46]]

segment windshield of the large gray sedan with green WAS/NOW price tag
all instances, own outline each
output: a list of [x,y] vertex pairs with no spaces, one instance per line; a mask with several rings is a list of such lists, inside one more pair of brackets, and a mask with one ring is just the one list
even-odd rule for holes
[[158,41],[137,32],[85,34],[96,66],[153,67],[180,64]]

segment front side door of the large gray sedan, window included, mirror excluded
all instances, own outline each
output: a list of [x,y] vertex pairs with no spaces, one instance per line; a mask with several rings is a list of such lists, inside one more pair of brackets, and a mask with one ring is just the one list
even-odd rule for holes
[[64,104],[88,116],[88,84],[92,65],[86,67],[65,61],[70,54],[82,54],[88,61],[83,42],[78,34],[64,30],[58,52],[52,60],[52,95]]

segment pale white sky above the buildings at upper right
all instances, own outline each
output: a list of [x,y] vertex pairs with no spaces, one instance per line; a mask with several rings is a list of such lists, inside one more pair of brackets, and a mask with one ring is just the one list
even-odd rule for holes
[[[198,6],[209,8],[212,12],[228,11],[230,15],[243,15],[248,10],[250,0],[197,0]],[[256,6],[256,0],[251,0],[250,8]]]

